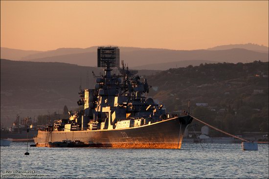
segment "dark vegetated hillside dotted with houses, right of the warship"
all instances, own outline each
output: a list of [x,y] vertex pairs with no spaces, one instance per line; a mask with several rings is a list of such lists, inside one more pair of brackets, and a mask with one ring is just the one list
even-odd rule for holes
[[268,62],[258,61],[201,64],[171,68],[147,78],[157,89],[151,95],[170,112],[187,110],[190,100],[193,115],[225,131],[268,132],[268,70]]

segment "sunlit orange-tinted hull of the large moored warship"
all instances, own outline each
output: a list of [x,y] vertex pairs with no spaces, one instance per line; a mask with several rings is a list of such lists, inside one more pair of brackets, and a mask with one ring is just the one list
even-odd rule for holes
[[94,131],[39,131],[34,141],[37,147],[48,142],[80,140],[89,147],[180,149],[184,131],[192,117],[180,116],[140,127]]

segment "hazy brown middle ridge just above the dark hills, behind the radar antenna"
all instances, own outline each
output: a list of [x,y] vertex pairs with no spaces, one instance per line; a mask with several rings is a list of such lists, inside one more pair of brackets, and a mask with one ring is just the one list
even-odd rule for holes
[[[246,63],[255,60],[267,62],[269,60],[267,53],[260,53],[246,49],[229,49],[229,50],[134,50],[121,51],[120,58],[124,59],[129,67],[169,63],[179,61],[197,61],[206,60],[214,62],[228,63]],[[61,56],[45,57],[41,59],[32,59],[33,62],[61,62],[70,63],[80,66],[96,66],[96,52],[86,52],[78,54],[68,54]],[[191,64],[191,63],[190,63]],[[188,65],[190,65],[188,64]],[[153,67],[144,69],[155,69]]]

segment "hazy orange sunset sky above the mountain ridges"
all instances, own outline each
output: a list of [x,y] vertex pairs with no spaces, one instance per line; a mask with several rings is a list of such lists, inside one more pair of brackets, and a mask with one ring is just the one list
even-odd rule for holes
[[0,46],[268,46],[269,1],[1,1]]

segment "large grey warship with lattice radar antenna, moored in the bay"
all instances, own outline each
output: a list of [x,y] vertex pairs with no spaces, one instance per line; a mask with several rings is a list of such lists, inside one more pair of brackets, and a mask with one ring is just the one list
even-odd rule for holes
[[[123,61],[121,65],[118,47],[98,47],[97,67],[103,67],[104,74],[92,72],[94,89],[80,87],[77,104],[84,109],[69,112],[69,119],[39,126],[36,146],[79,141],[98,148],[180,149],[193,117],[188,112],[168,114],[163,105],[147,96],[151,88],[147,80],[141,80],[138,71],[130,70]],[[113,69],[119,73],[112,73]]]

